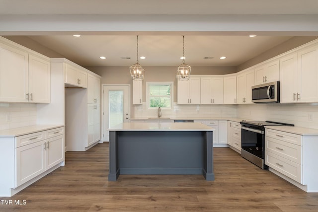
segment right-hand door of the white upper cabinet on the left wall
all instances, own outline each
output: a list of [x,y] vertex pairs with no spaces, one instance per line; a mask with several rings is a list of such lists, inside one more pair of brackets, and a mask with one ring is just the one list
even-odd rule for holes
[[50,103],[51,63],[29,55],[29,102]]

